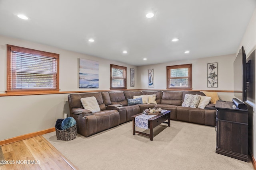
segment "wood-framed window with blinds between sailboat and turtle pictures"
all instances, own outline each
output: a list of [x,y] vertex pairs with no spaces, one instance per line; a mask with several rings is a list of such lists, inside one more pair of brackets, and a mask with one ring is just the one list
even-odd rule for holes
[[167,88],[192,89],[192,64],[167,66]]

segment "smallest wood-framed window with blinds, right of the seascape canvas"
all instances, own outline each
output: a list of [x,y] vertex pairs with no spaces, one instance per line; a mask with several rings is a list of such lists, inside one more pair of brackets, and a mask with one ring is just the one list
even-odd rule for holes
[[126,89],[126,67],[110,64],[110,89]]

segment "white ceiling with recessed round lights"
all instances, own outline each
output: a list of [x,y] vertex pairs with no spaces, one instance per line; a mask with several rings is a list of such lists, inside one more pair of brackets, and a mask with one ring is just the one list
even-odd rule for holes
[[236,53],[255,8],[256,0],[0,0],[0,35],[140,66]]

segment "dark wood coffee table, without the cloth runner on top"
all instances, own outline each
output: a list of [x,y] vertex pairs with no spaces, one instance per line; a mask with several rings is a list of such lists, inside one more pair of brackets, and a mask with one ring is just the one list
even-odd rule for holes
[[[150,141],[153,141],[153,129],[154,127],[160,125],[161,123],[168,123],[168,126],[170,127],[170,117],[171,117],[171,111],[167,110],[162,115],[156,115],[154,117],[151,117],[148,119],[148,128],[150,129],[150,134],[143,133],[140,131],[135,130],[135,117],[138,115],[142,115],[144,113],[139,113],[137,115],[132,116],[132,135],[135,135],[135,133],[139,133],[141,135],[145,135],[150,137]],[[168,122],[165,122],[168,119]]]

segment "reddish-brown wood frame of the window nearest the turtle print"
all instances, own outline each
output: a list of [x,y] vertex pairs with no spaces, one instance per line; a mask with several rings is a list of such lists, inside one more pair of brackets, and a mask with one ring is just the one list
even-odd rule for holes
[[[188,77],[177,77],[177,78],[188,78],[188,87],[169,87],[169,70],[172,69],[179,69],[179,68],[188,68]],[[192,90],[192,64],[181,64],[181,65],[174,65],[174,66],[166,66],[166,89],[170,90]]]

